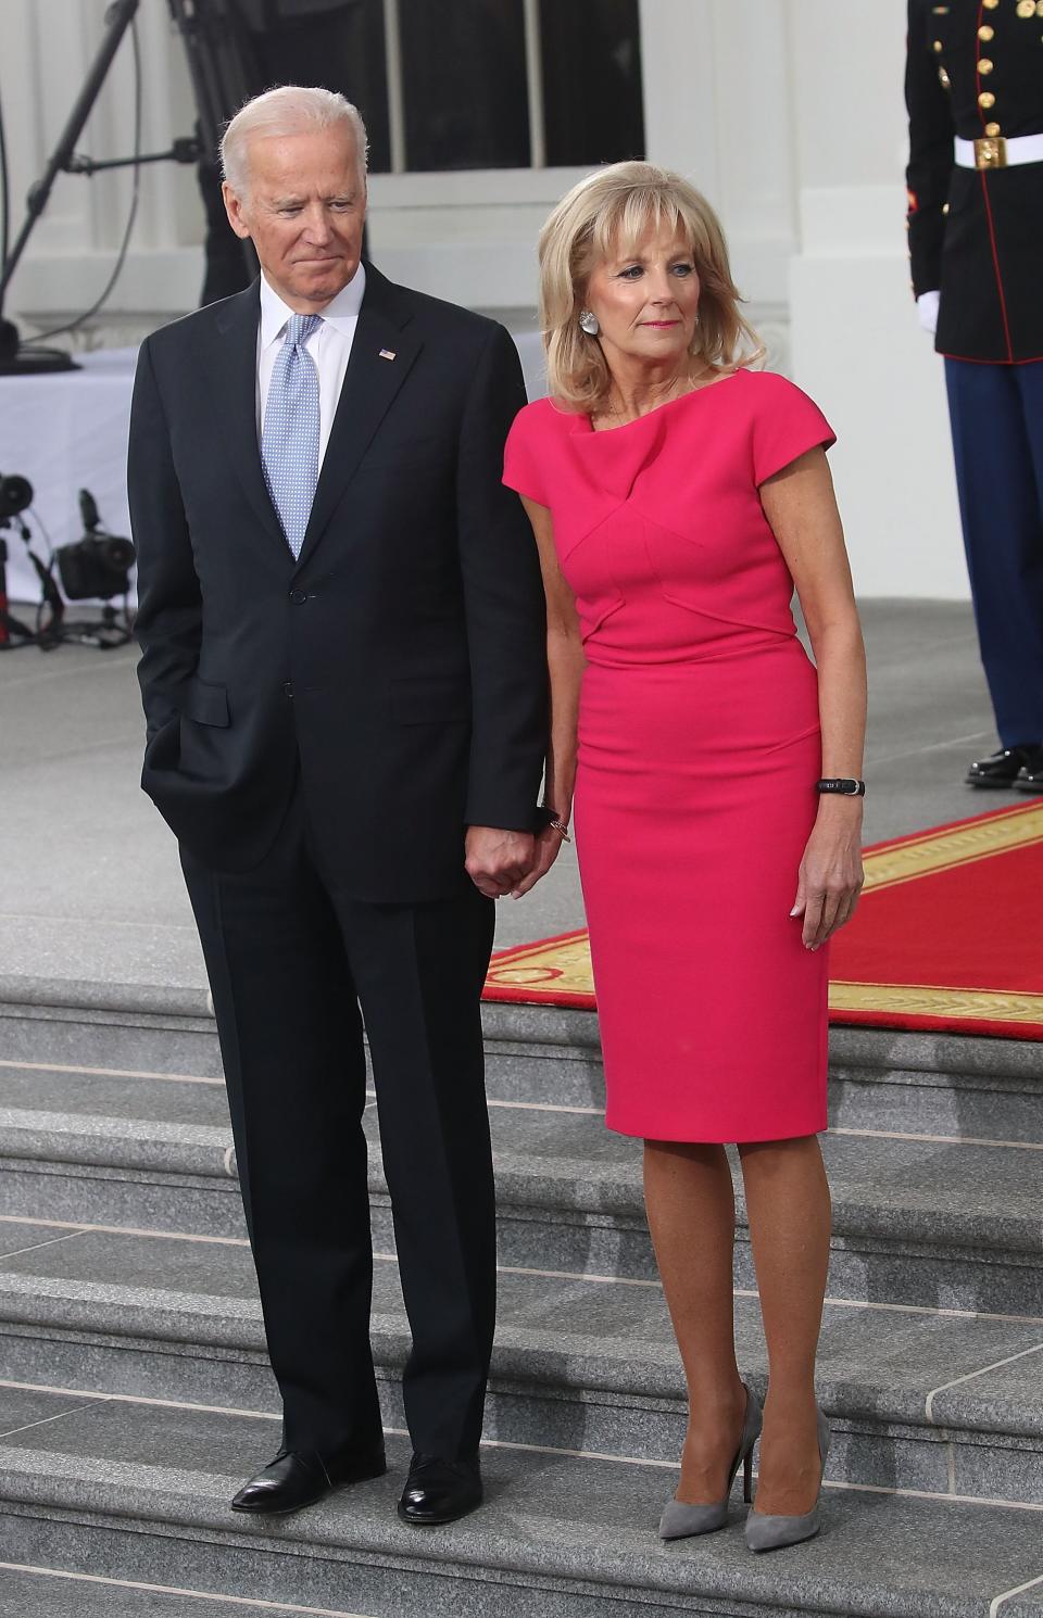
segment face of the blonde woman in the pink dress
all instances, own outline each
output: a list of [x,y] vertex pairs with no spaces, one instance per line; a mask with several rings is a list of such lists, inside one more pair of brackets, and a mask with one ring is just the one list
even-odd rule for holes
[[598,316],[601,346],[620,359],[680,364],[695,333],[700,278],[680,227],[649,227],[630,256],[612,254],[591,273],[586,307]]

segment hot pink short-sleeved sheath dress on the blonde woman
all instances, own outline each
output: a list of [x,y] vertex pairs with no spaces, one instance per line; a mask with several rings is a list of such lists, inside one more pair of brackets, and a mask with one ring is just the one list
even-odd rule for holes
[[604,432],[539,400],[507,440],[504,482],[551,510],[586,652],[573,812],[620,1134],[826,1128],[828,950],[789,914],[818,681],[758,487],[832,442],[805,393],[750,371]]

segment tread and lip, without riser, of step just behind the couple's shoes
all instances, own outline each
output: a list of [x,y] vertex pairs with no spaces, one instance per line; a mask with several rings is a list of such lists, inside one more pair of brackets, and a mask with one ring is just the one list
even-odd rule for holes
[[[0,1259],[0,1328],[18,1327],[264,1353],[246,1246],[138,1233],[83,1231]],[[756,1298],[735,1298],[735,1335],[743,1372],[763,1388]],[[372,1340],[379,1362],[403,1364],[408,1327],[390,1259],[374,1267]],[[1043,1320],[828,1299],[818,1375],[826,1409],[849,1421],[1043,1440]],[[494,1377],[683,1401],[661,1290],[580,1275],[500,1272]]]

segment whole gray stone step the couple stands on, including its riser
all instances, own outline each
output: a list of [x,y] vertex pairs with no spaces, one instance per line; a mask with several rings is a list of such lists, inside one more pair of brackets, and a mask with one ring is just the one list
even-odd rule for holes
[[729,1527],[664,1545],[664,1468],[484,1448],[486,1506],[400,1524],[387,1477],[277,1523],[228,1511],[277,1443],[256,1417],[0,1390],[0,1532],[26,1566],[372,1618],[1040,1618],[1040,1514],[829,1487],[823,1534],[771,1557]]

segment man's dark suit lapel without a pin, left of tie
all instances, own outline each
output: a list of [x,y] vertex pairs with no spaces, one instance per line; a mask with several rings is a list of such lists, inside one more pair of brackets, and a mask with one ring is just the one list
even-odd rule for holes
[[272,505],[258,445],[258,322],[259,282],[220,304],[220,341],[206,348],[207,372],[217,400],[222,447],[243,492],[266,531],[285,557],[293,560],[279,513]]

